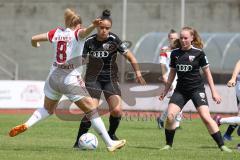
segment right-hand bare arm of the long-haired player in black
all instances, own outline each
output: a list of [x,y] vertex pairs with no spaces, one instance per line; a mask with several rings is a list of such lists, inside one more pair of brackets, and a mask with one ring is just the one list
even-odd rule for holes
[[211,71],[210,71],[210,68],[207,66],[207,67],[204,67],[202,68],[203,70],[203,73],[204,75],[206,76],[207,78],[207,81],[208,81],[208,85],[210,87],[210,90],[212,92],[212,98],[213,100],[219,104],[221,103],[222,99],[221,99],[221,96],[218,94],[216,88],[215,88],[215,85],[214,85],[214,82],[213,82],[213,78],[212,78],[212,74],[211,74]]

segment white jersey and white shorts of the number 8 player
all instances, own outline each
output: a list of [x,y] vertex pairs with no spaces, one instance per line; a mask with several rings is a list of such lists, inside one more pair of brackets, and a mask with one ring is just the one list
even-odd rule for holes
[[75,102],[89,96],[81,78],[81,55],[84,40],[78,38],[78,30],[56,28],[48,32],[48,40],[54,49],[52,68],[44,86],[45,95],[60,100],[66,95]]

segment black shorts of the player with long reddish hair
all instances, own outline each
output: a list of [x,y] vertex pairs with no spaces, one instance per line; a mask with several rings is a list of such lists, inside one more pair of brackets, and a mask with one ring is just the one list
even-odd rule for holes
[[190,99],[192,100],[195,108],[198,108],[199,106],[202,106],[202,105],[208,106],[207,95],[204,89],[198,89],[191,93],[183,93],[178,90],[175,90],[169,103],[174,103],[178,105],[182,110],[184,105]]

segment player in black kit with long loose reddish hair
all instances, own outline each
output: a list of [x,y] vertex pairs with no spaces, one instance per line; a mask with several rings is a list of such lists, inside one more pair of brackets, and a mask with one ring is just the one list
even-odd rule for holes
[[166,146],[164,146],[162,150],[172,148],[176,129],[174,123],[175,117],[191,99],[202,121],[206,125],[208,132],[216,141],[219,148],[222,151],[231,152],[229,148],[224,146],[218,125],[212,119],[209,112],[200,68],[206,76],[213,100],[219,104],[221,103],[221,97],[215,89],[207,57],[201,49],[203,48],[203,44],[199,34],[193,28],[184,27],[180,32],[180,39],[177,40],[176,43],[177,49],[173,50],[171,54],[171,69],[168,81],[159,98],[163,100],[177,74],[177,86],[168,105],[168,116],[165,127]]

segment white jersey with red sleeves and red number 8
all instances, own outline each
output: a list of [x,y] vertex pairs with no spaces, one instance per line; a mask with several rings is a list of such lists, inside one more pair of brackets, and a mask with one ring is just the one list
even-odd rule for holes
[[[52,43],[54,49],[54,58],[51,71],[57,66],[70,66],[79,64],[72,64],[71,60],[82,55],[84,40],[78,38],[78,32],[69,28],[56,28],[48,32],[48,40]],[[79,63],[81,63],[79,61]]]

